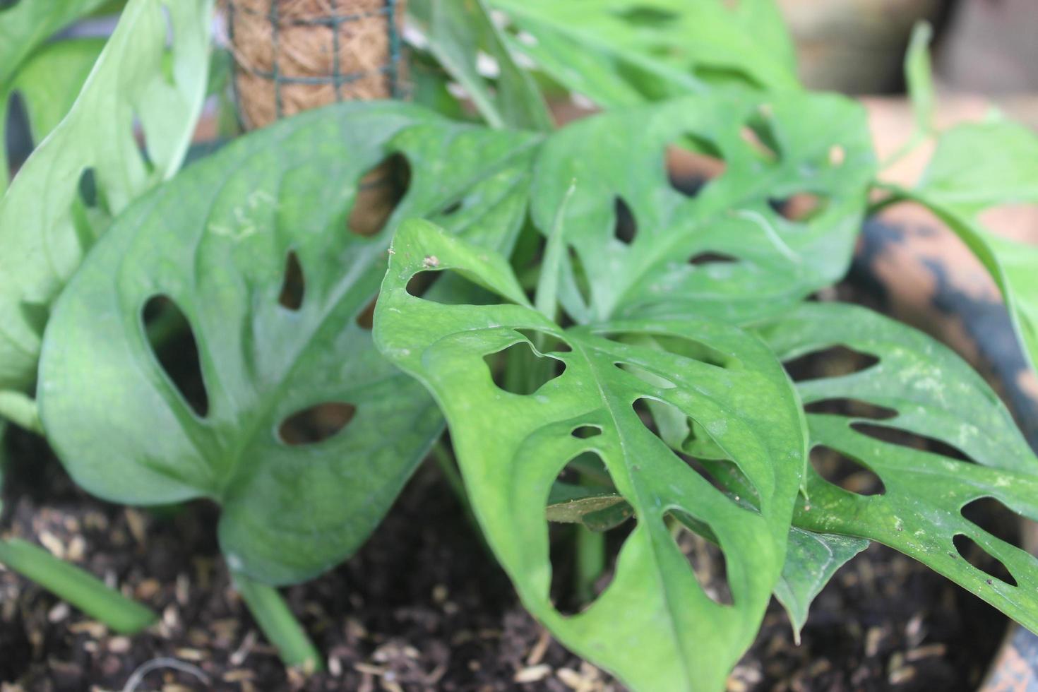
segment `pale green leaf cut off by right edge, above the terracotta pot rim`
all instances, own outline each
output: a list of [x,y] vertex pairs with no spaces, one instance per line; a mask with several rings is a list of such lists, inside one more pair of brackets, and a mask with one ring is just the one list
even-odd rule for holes
[[980,220],[1002,204],[1038,204],[1038,135],[1009,121],[954,128],[938,140],[919,186],[896,194],[930,207],[973,250],[1038,367],[1038,246],[996,234]]

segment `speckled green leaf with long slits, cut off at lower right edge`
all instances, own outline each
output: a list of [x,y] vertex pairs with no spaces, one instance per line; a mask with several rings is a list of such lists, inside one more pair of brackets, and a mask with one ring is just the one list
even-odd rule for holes
[[[878,359],[850,375],[799,382],[805,405],[855,399],[896,414],[883,419],[808,414],[812,446],[826,446],[871,469],[883,493],[852,493],[809,468],[809,499],[798,503],[794,523],[896,548],[1038,629],[1038,560],[961,514],[966,504],[990,497],[1038,519],[1038,460],[983,379],[928,336],[862,307],[805,304],[761,331],[784,360],[834,345]],[[869,434],[877,428],[938,440],[976,463]],[[954,545],[959,534],[1000,560],[1017,585],[963,559]]]

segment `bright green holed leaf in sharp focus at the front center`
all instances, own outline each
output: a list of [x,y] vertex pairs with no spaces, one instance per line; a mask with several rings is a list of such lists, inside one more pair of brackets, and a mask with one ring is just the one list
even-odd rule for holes
[[[411,296],[408,282],[428,270],[453,270],[511,304]],[[425,221],[407,222],[393,242],[375,323],[382,353],[421,380],[445,413],[473,511],[530,612],[634,689],[721,688],[778,578],[803,460],[795,398],[763,344],[695,317],[564,330],[530,306],[501,256]],[[565,371],[531,394],[499,388],[484,357],[514,344]],[[639,418],[639,399],[693,418],[749,478],[758,508],[733,501],[671,451]],[[589,427],[600,432],[573,434]],[[566,616],[549,598],[545,505],[559,471],[584,452],[601,459],[638,521],[611,584]],[[734,605],[704,592],[667,515],[709,526]]]

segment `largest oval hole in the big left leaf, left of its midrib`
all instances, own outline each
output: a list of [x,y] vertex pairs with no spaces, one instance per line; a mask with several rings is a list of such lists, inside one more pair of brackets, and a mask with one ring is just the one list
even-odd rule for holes
[[191,323],[168,296],[153,296],[141,308],[141,324],[152,353],[184,402],[199,417],[209,413],[198,343]]

